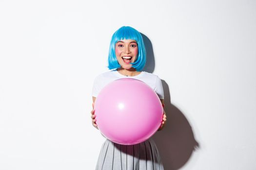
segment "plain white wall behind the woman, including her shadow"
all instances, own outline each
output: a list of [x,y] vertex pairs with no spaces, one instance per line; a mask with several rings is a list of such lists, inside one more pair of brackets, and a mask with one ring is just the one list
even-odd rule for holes
[[255,0],[1,0],[0,170],[93,170],[95,76],[136,28],[163,80],[165,170],[256,170]]

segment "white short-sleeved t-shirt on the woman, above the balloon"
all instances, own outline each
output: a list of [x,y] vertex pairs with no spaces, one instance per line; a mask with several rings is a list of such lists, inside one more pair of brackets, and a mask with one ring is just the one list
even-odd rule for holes
[[95,78],[92,96],[97,97],[98,93],[105,85],[121,78],[133,78],[140,80],[149,85],[158,94],[159,99],[164,98],[162,82],[157,75],[142,71],[136,76],[124,76],[120,74],[117,70],[111,70],[101,73]]

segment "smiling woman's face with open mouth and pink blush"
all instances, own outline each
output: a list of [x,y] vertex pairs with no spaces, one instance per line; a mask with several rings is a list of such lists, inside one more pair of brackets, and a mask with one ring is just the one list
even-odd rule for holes
[[116,43],[116,56],[119,65],[124,69],[132,68],[132,64],[137,59],[138,45],[135,40],[123,39]]

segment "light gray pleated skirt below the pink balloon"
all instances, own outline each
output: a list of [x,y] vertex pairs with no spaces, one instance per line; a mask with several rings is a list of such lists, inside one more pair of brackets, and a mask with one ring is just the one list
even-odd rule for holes
[[96,170],[163,170],[163,165],[152,138],[136,145],[120,145],[106,139]]

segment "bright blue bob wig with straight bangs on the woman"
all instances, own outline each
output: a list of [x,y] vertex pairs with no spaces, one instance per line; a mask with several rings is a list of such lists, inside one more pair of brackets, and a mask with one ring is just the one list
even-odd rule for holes
[[132,27],[123,26],[119,28],[113,35],[109,46],[109,54],[108,54],[108,68],[109,69],[117,69],[121,66],[118,63],[116,57],[116,43],[123,39],[132,39],[136,40],[138,45],[138,56],[132,67],[135,68],[137,71],[141,71],[145,64],[146,64],[146,49],[142,39],[141,34]]

